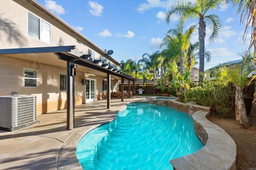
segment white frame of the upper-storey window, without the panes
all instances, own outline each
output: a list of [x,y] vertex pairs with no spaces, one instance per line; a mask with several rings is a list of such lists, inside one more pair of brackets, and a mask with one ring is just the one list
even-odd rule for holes
[[[34,16],[34,17],[36,17],[36,18],[38,18],[38,20],[39,20],[39,28],[38,28],[38,38],[37,37],[34,37],[33,35],[30,35],[30,33],[29,33],[29,29],[28,29],[28,27],[29,27],[29,25],[28,25],[28,23],[29,23],[29,17],[28,17],[28,15],[32,15],[32,16]],[[43,37],[43,29],[42,29],[42,24],[47,24],[47,25],[49,25],[49,29],[50,30],[48,30],[49,32],[50,32],[50,39],[49,39],[49,42],[48,41],[46,41],[44,38],[42,38]],[[27,34],[29,35],[29,36],[31,36],[31,37],[34,37],[34,38],[36,38],[36,39],[39,39],[40,41],[43,41],[44,43],[48,43],[48,44],[50,44],[51,45],[51,43],[52,43],[52,25],[49,23],[49,22],[47,22],[46,20],[42,20],[42,18],[40,18],[39,16],[37,16],[37,15],[35,15],[35,14],[33,14],[32,12],[30,12],[30,11],[28,11],[27,12]]]

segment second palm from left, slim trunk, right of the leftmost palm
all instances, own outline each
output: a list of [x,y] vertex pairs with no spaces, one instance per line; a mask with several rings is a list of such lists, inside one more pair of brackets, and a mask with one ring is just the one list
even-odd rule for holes
[[[156,75],[158,75],[157,70],[158,70],[158,56],[160,54],[160,51],[155,51],[152,52],[152,54],[145,53],[142,55],[142,59],[138,61],[138,63],[143,63],[146,68],[149,70],[152,70],[153,73],[153,84],[154,87],[156,86]],[[155,94],[155,88],[154,88],[154,93]]]

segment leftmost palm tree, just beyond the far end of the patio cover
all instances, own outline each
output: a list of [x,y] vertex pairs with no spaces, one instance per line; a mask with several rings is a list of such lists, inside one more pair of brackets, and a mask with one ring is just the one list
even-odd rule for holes
[[[126,63],[124,63],[124,66],[123,66],[123,72],[126,72],[127,74],[129,75],[132,75],[134,78],[137,79],[137,77],[139,76],[139,73],[141,72],[141,68],[143,67],[143,64],[140,64],[140,63],[136,63],[135,60],[132,60],[132,59],[128,59],[126,61]],[[136,87],[137,86],[137,83],[135,81],[135,88],[134,88],[134,92],[136,92]]]

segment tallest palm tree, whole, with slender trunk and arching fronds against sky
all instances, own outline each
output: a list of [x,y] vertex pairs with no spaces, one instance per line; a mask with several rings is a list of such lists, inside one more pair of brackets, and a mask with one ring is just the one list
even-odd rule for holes
[[[204,38],[206,36],[206,24],[210,26],[211,35],[209,41],[212,42],[218,37],[221,29],[220,18],[217,15],[206,13],[210,9],[219,6],[222,0],[196,0],[195,3],[191,2],[178,2],[176,5],[171,6],[171,9],[166,13],[165,21],[169,24],[170,19],[177,14],[180,16],[180,21],[184,22],[186,19],[199,18],[199,72],[204,71]],[[200,82],[202,83],[202,74],[200,74]]]

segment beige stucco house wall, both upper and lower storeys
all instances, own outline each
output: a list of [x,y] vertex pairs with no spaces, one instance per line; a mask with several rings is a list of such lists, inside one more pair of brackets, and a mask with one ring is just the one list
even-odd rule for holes
[[[0,0],[0,11],[0,49],[76,45],[75,50],[83,54],[88,54],[88,49],[93,50],[95,59],[104,55],[86,39],[82,39],[27,0]],[[51,25],[50,44],[28,35],[28,12]],[[77,43],[77,38],[83,41],[86,47]],[[37,87],[24,87],[24,69],[37,70]],[[66,74],[66,69],[0,55],[0,73],[0,96],[12,95],[13,92],[36,95],[37,114],[66,107],[66,91],[60,91],[60,73]],[[86,102],[83,78],[82,72],[76,72],[75,105]],[[96,100],[106,98],[106,92],[102,91],[104,77],[92,78],[96,79]]]

